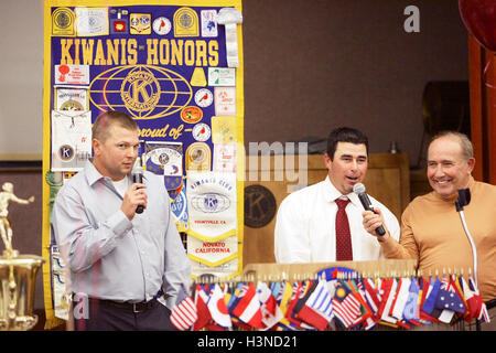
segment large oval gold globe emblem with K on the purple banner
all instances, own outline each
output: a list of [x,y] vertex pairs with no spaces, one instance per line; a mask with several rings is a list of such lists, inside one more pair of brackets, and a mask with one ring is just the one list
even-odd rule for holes
[[89,85],[89,99],[103,111],[126,108],[136,119],[157,119],[186,107],[193,97],[190,83],[159,66],[127,65],[110,68]]

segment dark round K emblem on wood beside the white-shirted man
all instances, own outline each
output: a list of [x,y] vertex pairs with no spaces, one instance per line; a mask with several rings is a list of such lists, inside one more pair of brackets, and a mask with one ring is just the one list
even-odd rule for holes
[[268,225],[276,215],[276,197],[262,185],[245,188],[245,225],[261,228]]

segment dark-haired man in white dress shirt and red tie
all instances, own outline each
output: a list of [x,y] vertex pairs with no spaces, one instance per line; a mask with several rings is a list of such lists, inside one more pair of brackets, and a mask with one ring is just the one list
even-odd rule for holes
[[[347,127],[333,130],[327,138],[324,162],[328,170],[324,181],[291,193],[279,206],[274,232],[276,261],[288,264],[382,259],[378,243],[380,237],[365,231],[364,207],[353,192],[353,186],[362,183],[367,173],[367,137]],[[348,239],[351,237],[351,245],[347,240],[349,255],[345,257],[341,254],[342,245],[336,246],[342,244],[339,237],[336,239],[337,199],[349,200],[346,200],[344,206],[349,224]],[[399,239],[400,226],[396,216],[370,195],[369,199],[374,208],[380,210],[377,213],[386,232]]]

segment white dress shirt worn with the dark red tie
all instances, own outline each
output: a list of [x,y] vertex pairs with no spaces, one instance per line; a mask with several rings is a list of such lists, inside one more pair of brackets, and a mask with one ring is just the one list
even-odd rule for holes
[[[336,199],[342,197],[328,176],[316,184],[288,195],[279,206],[276,233],[276,261],[333,263],[336,260],[335,222]],[[355,193],[349,199],[346,214],[352,234],[353,260],[382,259],[377,238],[363,226],[364,206]],[[374,207],[382,211],[386,227],[395,239],[399,239],[400,226],[396,216],[380,202],[369,195]]]

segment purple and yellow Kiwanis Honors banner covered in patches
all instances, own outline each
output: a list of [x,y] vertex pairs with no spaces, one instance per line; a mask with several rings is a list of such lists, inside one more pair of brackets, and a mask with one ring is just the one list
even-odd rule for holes
[[[179,229],[185,232],[185,175],[212,172],[215,154],[215,170],[236,175],[231,255],[237,266],[225,276],[242,266],[244,165],[233,146],[215,145],[244,143],[241,12],[241,0],[44,1],[43,174],[79,171],[90,158],[93,122],[104,111],[123,111],[138,124],[143,167],[164,175]],[[218,124],[213,127],[214,117],[229,117],[236,129],[230,139],[217,140],[222,131]],[[46,205],[50,191],[46,182]],[[50,220],[46,206],[45,258],[54,246]],[[47,327],[57,323],[53,308],[61,298],[53,293],[67,295],[51,264],[43,268]],[[209,264],[204,274],[219,265]]]

